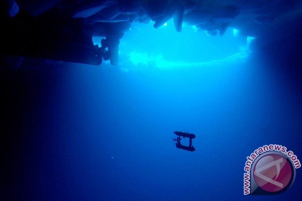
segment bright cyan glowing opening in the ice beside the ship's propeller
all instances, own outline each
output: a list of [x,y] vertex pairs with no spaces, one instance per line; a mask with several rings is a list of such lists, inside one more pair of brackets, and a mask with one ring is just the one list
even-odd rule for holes
[[175,32],[172,21],[158,29],[152,24],[133,24],[131,33],[125,33],[120,41],[121,71],[215,67],[244,61],[249,55],[244,36],[234,37],[236,29],[207,36],[196,26]]

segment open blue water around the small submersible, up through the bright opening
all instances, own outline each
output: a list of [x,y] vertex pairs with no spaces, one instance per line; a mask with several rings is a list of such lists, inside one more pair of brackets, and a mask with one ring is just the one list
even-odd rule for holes
[[[302,159],[297,51],[252,49],[232,29],[173,29],[132,24],[120,66],[25,62],[2,75],[18,105],[6,200],[300,200],[300,168],[282,194],[243,195],[258,147]],[[195,152],[176,149],[175,130],[196,135]]]

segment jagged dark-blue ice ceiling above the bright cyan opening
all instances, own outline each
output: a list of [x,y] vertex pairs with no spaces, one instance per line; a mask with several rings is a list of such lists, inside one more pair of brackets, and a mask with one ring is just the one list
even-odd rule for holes
[[210,35],[223,35],[228,27],[245,36],[283,35],[300,30],[298,0],[119,0],[82,1],[73,17],[93,22],[154,21],[159,28],[173,19],[176,31],[194,25]]

